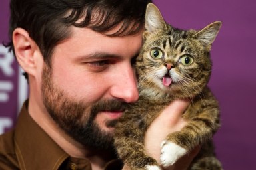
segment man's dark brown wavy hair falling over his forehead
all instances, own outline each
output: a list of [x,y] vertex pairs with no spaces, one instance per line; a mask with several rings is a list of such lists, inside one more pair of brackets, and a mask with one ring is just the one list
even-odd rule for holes
[[[12,37],[17,27],[25,29],[39,46],[44,61],[51,65],[53,48],[70,36],[69,26],[89,27],[105,34],[122,23],[116,33],[107,36],[133,35],[144,25],[145,9],[149,2],[150,0],[11,0],[9,36]],[[13,41],[5,46],[13,50]]]

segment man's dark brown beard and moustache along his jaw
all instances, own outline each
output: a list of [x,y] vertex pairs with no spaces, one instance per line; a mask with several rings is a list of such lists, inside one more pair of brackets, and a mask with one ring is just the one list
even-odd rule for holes
[[[47,112],[67,135],[91,149],[114,149],[113,134],[100,129],[94,120],[101,111],[121,110],[121,102],[99,100],[94,104],[85,104],[82,100],[72,100],[64,90],[53,84],[48,66],[43,67],[41,90]],[[116,122],[111,120],[105,126],[113,127]]]

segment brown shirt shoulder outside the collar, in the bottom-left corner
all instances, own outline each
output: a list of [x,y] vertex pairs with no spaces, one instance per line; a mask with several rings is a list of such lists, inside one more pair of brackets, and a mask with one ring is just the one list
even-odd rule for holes
[[17,169],[17,166],[14,131],[11,130],[0,135],[0,169]]

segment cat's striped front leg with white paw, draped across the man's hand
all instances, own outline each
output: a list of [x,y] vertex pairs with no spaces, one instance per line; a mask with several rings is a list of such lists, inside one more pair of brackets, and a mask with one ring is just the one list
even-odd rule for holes
[[195,120],[189,122],[181,131],[167,135],[161,145],[160,161],[163,167],[173,165],[194,147],[211,139],[214,128],[209,128],[210,123],[207,123],[208,126],[205,126],[202,121]]

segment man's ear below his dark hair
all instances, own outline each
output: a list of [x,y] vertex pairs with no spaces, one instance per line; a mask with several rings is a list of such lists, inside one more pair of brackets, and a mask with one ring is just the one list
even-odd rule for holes
[[21,68],[28,74],[35,76],[37,64],[39,64],[37,62],[38,54],[41,52],[25,29],[17,28],[13,31],[13,46]]

